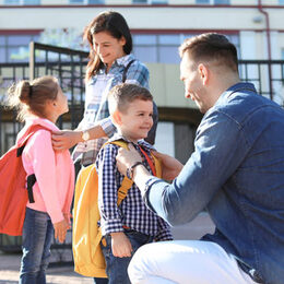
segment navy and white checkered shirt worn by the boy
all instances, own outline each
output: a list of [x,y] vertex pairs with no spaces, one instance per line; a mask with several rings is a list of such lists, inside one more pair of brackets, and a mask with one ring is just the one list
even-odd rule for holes
[[[122,137],[116,134],[109,141],[119,139],[122,139]],[[126,139],[123,140],[127,141]],[[139,145],[132,144],[141,154],[139,145],[151,156],[150,150],[153,147],[144,140],[140,140]],[[118,171],[116,165],[118,149],[118,145],[106,144],[100,149],[96,159],[98,208],[102,216],[100,226],[103,236],[114,232],[123,232],[123,226],[127,226],[137,232],[153,236],[155,240],[171,240],[173,236],[169,225],[146,208],[135,184],[132,185],[119,208],[117,206],[117,191],[125,177]],[[143,164],[151,173],[147,162],[143,161]]]

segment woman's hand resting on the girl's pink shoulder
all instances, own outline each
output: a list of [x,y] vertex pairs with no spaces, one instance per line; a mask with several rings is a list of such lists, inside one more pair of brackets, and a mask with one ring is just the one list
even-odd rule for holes
[[52,132],[52,146],[55,151],[63,151],[74,146],[82,140],[82,132],[75,130],[62,130]]

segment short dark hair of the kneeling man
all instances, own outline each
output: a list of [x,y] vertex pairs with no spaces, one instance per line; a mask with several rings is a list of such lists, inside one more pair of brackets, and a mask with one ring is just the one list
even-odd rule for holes
[[188,38],[179,47],[181,58],[186,52],[196,62],[216,61],[238,72],[237,49],[224,35],[206,33]]

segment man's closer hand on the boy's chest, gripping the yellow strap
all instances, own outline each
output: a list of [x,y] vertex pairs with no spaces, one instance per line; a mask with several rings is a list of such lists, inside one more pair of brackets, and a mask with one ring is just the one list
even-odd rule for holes
[[132,144],[129,144],[129,151],[120,147],[117,154],[118,170],[126,176],[127,169],[134,165],[137,162],[142,162],[142,157]]

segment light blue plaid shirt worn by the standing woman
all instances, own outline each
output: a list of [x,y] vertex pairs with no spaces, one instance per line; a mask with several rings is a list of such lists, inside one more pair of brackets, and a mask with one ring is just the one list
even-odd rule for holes
[[[116,128],[109,118],[107,94],[111,87],[122,82],[123,70],[133,59],[133,55],[118,58],[108,73],[106,73],[106,68],[100,69],[86,83],[84,118],[78,129],[86,130],[99,123],[109,138],[115,133]],[[127,72],[126,83],[149,88],[147,68],[139,60],[132,62]],[[81,159],[81,164],[85,166],[95,163],[98,151],[106,141],[107,139],[102,138],[79,143],[73,152],[73,159]]]

